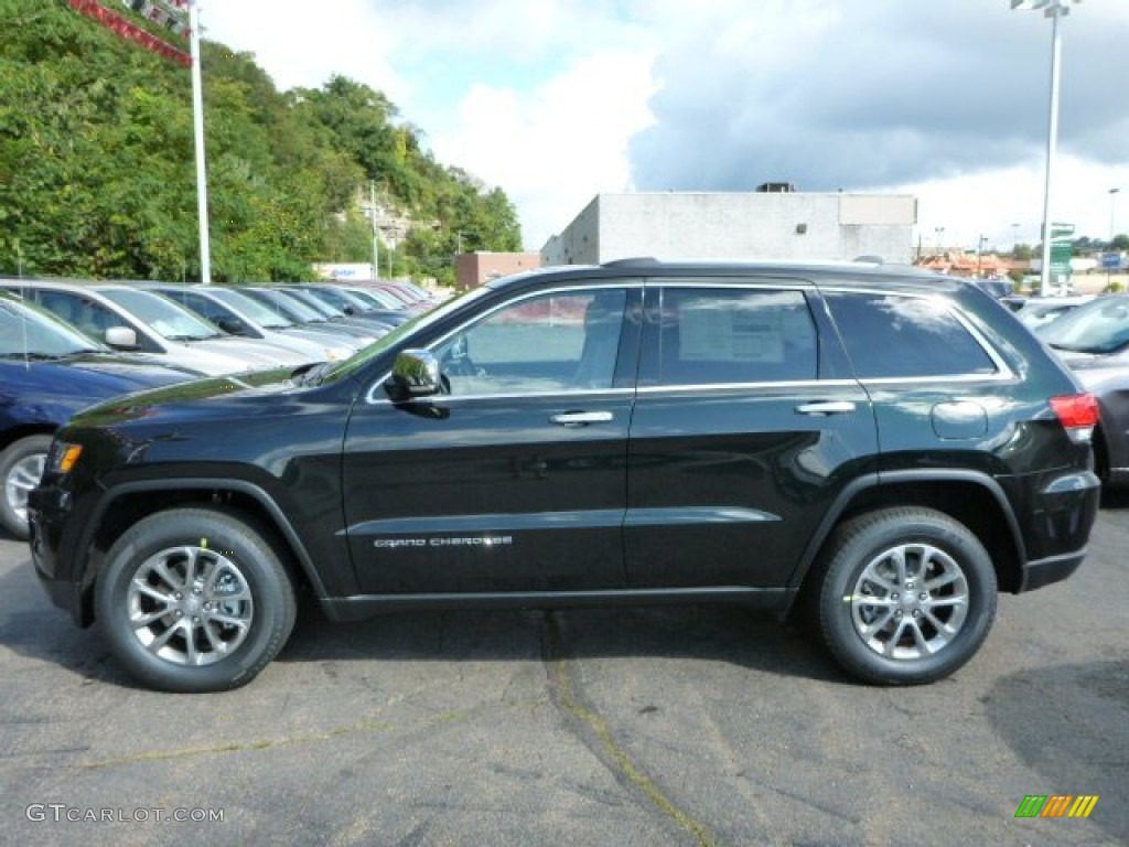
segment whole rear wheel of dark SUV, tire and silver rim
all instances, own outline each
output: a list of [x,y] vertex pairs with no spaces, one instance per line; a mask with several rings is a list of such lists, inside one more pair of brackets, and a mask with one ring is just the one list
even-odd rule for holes
[[844,523],[823,565],[823,639],[867,682],[947,676],[975,655],[996,617],[991,557],[968,527],[933,509],[883,509]]

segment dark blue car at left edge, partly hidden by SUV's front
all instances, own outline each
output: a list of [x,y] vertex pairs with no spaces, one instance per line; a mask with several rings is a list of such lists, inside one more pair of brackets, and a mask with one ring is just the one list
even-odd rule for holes
[[51,435],[93,403],[198,376],[113,352],[38,307],[0,296],[0,526],[27,538],[27,494]]

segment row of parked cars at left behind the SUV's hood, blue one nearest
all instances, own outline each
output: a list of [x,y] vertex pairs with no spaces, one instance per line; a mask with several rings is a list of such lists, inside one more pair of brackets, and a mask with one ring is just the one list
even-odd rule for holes
[[51,435],[78,410],[201,376],[343,361],[414,314],[400,283],[225,287],[0,280],[0,525],[27,534]]

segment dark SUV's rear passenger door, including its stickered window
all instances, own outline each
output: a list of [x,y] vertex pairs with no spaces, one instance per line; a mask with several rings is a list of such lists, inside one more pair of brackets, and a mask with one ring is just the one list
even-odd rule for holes
[[799,280],[648,282],[632,588],[782,590],[842,480],[874,461],[874,413],[820,303]]

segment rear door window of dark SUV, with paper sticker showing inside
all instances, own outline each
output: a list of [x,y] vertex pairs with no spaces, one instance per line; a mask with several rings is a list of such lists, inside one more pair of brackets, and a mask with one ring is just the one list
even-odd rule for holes
[[644,309],[644,382],[814,379],[819,344],[800,291],[666,288]]

